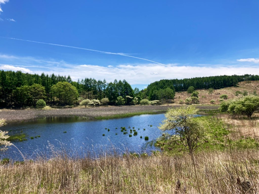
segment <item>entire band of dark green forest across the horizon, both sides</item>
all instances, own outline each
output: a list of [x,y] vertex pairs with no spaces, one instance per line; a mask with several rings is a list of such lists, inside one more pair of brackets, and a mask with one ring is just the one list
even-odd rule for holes
[[24,107],[35,106],[39,99],[49,105],[79,104],[83,99],[107,99],[110,105],[139,104],[142,99],[173,99],[175,91],[186,91],[189,86],[195,89],[220,89],[236,86],[238,82],[259,80],[258,75],[232,75],[196,77],[190,79],[163,79],[151,83],[147,89],[132,89],[124,80],[106,82],[94,78],[85,78],[77,82],[68,75],[41,75],[22,73],[21,71],[0,71],[0,106]]

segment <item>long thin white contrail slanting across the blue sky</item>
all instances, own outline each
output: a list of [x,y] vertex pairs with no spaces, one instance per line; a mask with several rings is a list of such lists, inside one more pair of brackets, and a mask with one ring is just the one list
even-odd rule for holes
[[[149,59],[134,57],[134,56],[125,55],[125,54],[122,54],[122,53],[112,53],[112,52],[106,52],[106,51],[98,51],[98,50],[89,49],[89,48],[81,48],[81,47],[76,47],[76,46],[67,46],[67,45],[62,45],[62,44],[53,44],[53,43],[46,43],[46,42],[38,42],[38,41],[32,41],[32,40],[23,40],[23,39],[18,39],[18,38],[7,38],[7,37],[1,37],[1,38],[13,39],[13,40],[22,40],[22,41],[34,42],[34,43],[40,43],[40,44],[49,44],[49,45],[54,45],[54,46],[67,47],[67,48],[76,48],[76,49],[81,49],[81,50],[86,50],[86,51],[94,51],[94,52],[104,53],[104,54],[120,55],[120,56],[125,56],[125,57],[132,57],[132,58],[136,58],[136,59],[146,60],[146,61],[157,63],[157,64],[160,64],[160,65],[165,65],[163,63],[158,63],[156,61],[152,61],[152,60],[149,60]],[[165,66],[170,67],[168,65],[165,65]]]

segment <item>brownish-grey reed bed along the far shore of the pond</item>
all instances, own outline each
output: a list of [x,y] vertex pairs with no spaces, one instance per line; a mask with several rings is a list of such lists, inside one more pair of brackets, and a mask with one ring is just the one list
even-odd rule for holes
[[[30,121],[44,117],[84,117],[86,119],[117,119],[144,114],[165,113],[169,108],[177,108],[181,105],[134,105],[134,106],[107,106],[88,108],[63,108],[63,109],[25,109],[25,110],[0,110],[0,118],[6,119],[6,123]],[[216,105],[196,105],[201,111],[216,110]]]

